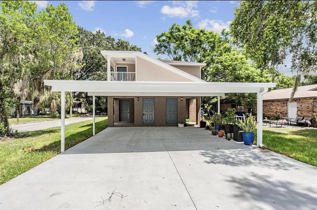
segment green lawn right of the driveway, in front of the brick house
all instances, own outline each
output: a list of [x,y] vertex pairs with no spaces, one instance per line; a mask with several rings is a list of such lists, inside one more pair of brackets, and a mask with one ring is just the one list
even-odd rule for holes
[[273,152],[317,166],[316,128],[263,127],[263,145]]

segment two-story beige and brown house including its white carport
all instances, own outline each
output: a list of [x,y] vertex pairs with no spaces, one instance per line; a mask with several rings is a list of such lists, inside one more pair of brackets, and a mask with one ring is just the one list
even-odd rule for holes
[[[108,126],[176,126],[189,118],[200,122],[200,97],[231,92],[257,93],[257,117],[262,121],[262,97],[275,83],[223,83],[200,79],[202,63],[158,60],[140,51],[101,51],[107,60],[107,81],[44,80],[61,92],[61,152],[65,139],[65,91],[108,97]],[[220,110],[218,110],[220,112]],[[93,120],[93,135],[95,123]],[[262,124],[257,144],[262,147]]]

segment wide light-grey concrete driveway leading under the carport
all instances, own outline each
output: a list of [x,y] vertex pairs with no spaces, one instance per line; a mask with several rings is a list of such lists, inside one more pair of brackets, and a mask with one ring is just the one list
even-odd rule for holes
[[107,128],[1,185],[0,203],[2,210],[316,209],[317,168],[201,128]]

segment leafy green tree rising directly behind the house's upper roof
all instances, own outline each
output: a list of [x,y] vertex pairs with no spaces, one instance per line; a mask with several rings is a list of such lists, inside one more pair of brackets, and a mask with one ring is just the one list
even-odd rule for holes
[[215,59],[230,51],[220,35],[214,31],[195,29],[191,20],[180,26],[172,24],[168,31],[156,36],[157,44],[154,52],[165,55],[171,60],[202,62],[207,65],[202,68],[202,79],[207,78],[207,69]]

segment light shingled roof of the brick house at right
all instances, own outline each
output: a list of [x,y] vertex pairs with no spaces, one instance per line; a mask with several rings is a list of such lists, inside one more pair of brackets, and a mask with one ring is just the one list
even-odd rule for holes
[[[279,100],[288,99],[292,93],[293,88],[284,88],[279,90],[270,91],[263,95],[263,100]],[[317,84],[299,86],[294,98],[310,98],[317,97]]]

